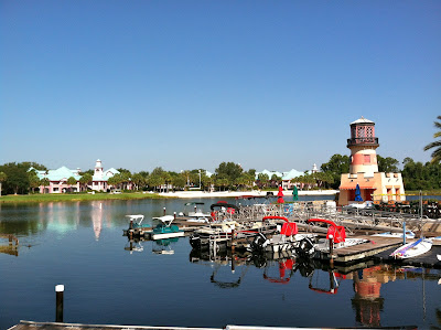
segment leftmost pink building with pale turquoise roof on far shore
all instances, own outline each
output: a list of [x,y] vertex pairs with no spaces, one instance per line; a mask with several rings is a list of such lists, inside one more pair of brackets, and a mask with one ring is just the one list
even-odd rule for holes
[[[40,193],[63,193],[63,192],[78,192],[79,191],[79,175],[80,170],[69,170],[66,167],[61,167],[60,169],[56,170],[47,170],[47,171],[41,171],[41,170],[35,170],[33,168],[30,169],[34,170],[36,173],[36,177],[39,177],[40,180],[42,179],[47,179],[49,180],[49,185],[40,185]],[[74,178],[76,180],[76,184],[68,184],[67,180],[69,178]]]

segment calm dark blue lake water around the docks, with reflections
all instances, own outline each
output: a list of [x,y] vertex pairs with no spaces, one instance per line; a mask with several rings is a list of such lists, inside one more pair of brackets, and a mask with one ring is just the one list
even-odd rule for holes
[[[209,209],[217,200],[192,201]],[[20,320],[55,321],[57,284],[65,285],[66,322],[441,327],[439,269],[368,265],[330,273],[316,263],[240,254],[215,263],[192,252],[187,237],[165,246],[136,243],[130,251],[125,215],[143,214],[150,222],[163,207],[168,214],[182,211],[185,202],[0,205],[0,233],[20,239],[18,256],[0,253],[0,329]]]

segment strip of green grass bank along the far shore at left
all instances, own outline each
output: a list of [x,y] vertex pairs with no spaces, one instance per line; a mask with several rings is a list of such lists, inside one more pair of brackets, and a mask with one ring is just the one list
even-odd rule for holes
[[28,195],[2,195],[0,204],[13,203],[53,203],[53,202],[84,202],[84,201],[109,201],[109,200],[148,200],[168,199],[158,193],[123,192],[119,194],[110,193],[75,193],[75,194],[28,194]]

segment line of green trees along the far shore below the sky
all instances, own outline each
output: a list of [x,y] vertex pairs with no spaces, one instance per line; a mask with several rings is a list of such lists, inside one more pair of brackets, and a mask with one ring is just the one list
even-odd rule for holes
[[[437,139],[428,143],[423,149],[432,149],[432,161],[422,163],[413,161],[407,157],[402,161],[402,179],[406,190],[432,190],[441,187],[441,116],[437,117],[440,121],[434,121],[438,131],[433,135]],[[399,172],[399,161],[391,157],[377,155],[379,172]],[[36,188],[50,184],[49,179],[39,179],[34,170],[47,171],[47,168],[36,162],[9,162],[0,166],[0,195],[2,190],[7,194],[25,194],[34,192]],[[240,164],[234,162],[222,162],[211,177],[203,169],[185,170],[180,173],[165,171],[155,168],[151,173],[141,171],[131,173],[126,169],[118,169],[119,173],[109,178],[108,184],[118,189],[127,189],[132,185],[135,190],[157,190],[169,189],[192,189],[208,190],[213,187],[217,190],[248,190],[257,185],[259,189],[276,188],[282,178],[259,173],[256,179],[256,170],[244,171]],[[349,157],[333,155],[331,159],[321,166],[321,172],[309,173],[291,180],[292,183],[300,184],[301,188],[333,188],[338,189],[342,173],[349,172]],[[92,184],[93,170],[80,173],[79,185],[82,190],[87,190]],[[77,184],[75,178],[68,178],[67,184]]]

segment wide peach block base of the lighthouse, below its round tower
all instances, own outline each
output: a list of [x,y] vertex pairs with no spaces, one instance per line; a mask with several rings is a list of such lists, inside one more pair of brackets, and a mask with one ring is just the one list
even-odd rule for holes
[[340,184],[338,205],[347,205],[355,202],[355,189],[359,185],[363,201],[401,202],[406,200],[405,185],[401,173],[376,172],[344,173]]

